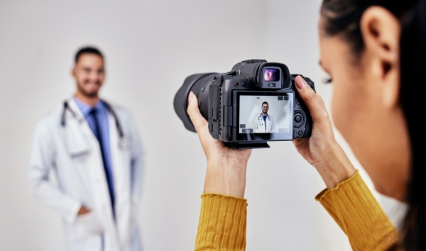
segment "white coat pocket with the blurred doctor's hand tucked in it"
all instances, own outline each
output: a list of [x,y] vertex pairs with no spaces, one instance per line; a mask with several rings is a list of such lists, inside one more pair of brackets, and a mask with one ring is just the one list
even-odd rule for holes
[[95,211],[90,211],[82,216],[77,216],[75,221],[75,233],[77,239],[84,239],[93,235],[104,233],[104,226]]

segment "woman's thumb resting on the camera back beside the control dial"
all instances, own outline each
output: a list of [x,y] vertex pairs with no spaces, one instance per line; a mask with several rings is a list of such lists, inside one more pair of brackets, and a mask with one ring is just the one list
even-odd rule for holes
[[320,122],[324,118],[328,118],[328,112],[325,108],[324,101],[322,101],[320,95],[310,88],[305,79],[301,76],[297,76],[295,83],[297,93],[309,109],[312,121]]

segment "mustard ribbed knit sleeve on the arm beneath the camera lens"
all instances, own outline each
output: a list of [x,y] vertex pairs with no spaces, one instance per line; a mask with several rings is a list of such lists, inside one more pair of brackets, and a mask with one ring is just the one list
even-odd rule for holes
[[202,194],[195,251],[246,250],[247,200]]

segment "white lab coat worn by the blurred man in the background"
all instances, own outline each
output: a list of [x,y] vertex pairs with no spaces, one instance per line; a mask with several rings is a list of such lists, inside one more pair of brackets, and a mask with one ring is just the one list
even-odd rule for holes
[[[68,105],[77,118],[66,111],[65,126],[60,123],[63,106],[36,125],[28,175],[31,194],[63,219],[68,250],[141,250],[135,216],[141,197],[143,149],[133,119],[123,108],[112,106],[126,140],[119,147],[114,116],[108,116],[114,221],[99,142],[74,99]],[[50,170],[55,171],[58,186],[50,181]],[[82,205],[91,212],[77,216]]]

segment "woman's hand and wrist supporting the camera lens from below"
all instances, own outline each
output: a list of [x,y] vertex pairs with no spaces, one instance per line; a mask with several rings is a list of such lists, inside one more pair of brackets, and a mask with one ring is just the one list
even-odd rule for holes
[[207,157],[204,193],[224,194],[244,198],[247,162],[251,149],[230,149],[209,133],[208,122],[198,108],[197,96],[192,91],[188,98],[187,113],[197,130],[202,149]]

